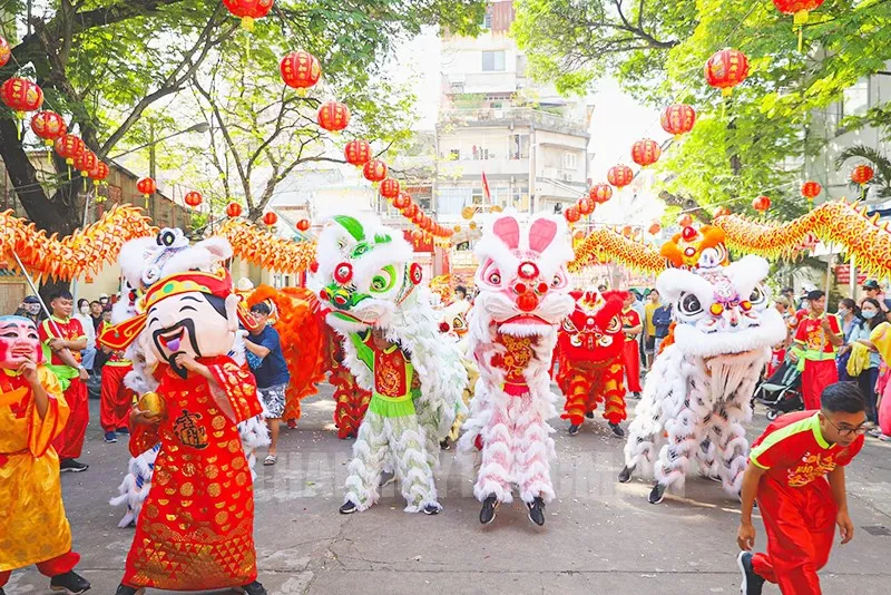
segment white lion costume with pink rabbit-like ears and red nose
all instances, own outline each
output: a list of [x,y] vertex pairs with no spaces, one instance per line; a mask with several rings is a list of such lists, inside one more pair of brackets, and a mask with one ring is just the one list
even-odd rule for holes
[[459,446],[482,452],[473,486],[481,523],[512,501],[517,485],[529,518],[544,525],[554,499],[547,420],[557,414],[548,371],[559,324],[575,308],[566,272],[572,247],[562,220],[536,216],[521,225],[505,214],[487,223],[476,254],[469,345],[480,378]]

